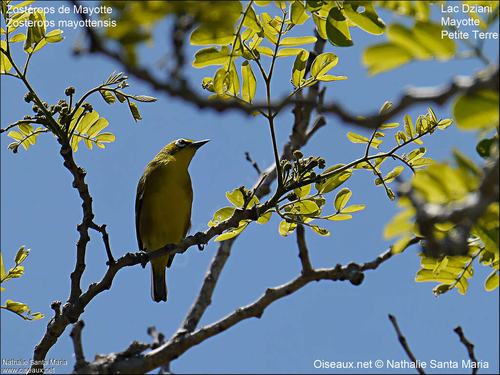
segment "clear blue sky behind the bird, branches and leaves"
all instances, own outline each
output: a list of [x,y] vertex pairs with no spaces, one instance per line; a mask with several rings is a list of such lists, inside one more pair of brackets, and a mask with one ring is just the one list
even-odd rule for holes
[[[69,3],[39,1],[38,6],[62,4]],[[262,8],[257,10],[263,11]],[[379,15],[387,24],[393,19],[385,11],[380,11]],[[433,16],[440,17],[436,9]],[[67,18],[77,19],[77,15],[47,15],[47,19]],[[403,18],[402,22],[407,23],[408,19]],[[498,23],[495,28],[497,31]],[[169,30],[166,22],[157,24],[154,42],[140,48],[141,61],[146,67],[158,69],[157,61],[169,48],[164,36],[169,35]],[[311,23],[306,22],[293,31],[311,34]],[[333,51],[339,57],[331,74],[348,77],[345,81],[326,84],[325,102],[339,102],[355,114],[372,113],[385,100],[396,100],[405,85],[431,86],[449,82],[455,75],[469,75],[482,67],[478,59],[446,63],[419,61],[369,77],[360,63],[360,53],[366,45],[386,39],[357,28],[351,28],[351,33],[354,46],[337,48],[327,44],[325,47],[325,51]],[[64,97],[67,86],[74,86],[76,95],[81,95],[105,80],[113,70],[121,70],[117,63],[100,55],[73,56],[72,44],[81,40],[82,35],[81,29],[64,29],[65,40],[46,45],[31,60],[28,79],[44,101],[57,102]],[[21,43],[14,48],[18,49],[14,54],[16,61],[21,61],[24,58]],[[189,47],[186,55],[192,56],[196,50]],[[497,61],[497,40],[486,41],[484,50],[490,59]],[[278,60],[272,86],[272,96],[276,99],[292,89],[289,83],[292,63],[293,57]],[[214,70],[213,67],[194,69],[187,65],[184,72],[191,85],[199,87],[201,79],[212,75]],[[161,71],[157,73],[161,76]],[[236,111],[220,114],[209,109],[199,110],[153,91],[134,77],[128,82],[131,85],[129,93],[155,96],[158,101],[140,104],[143,119],[135,123],[125,105],[108,105],[98,94],[92,96],[90,101],[94,110],[108,119],[110,124],[106,131],[114,133],[116,141],[106,144],[104,150],[88,150],[80,143],[74,154],[76,163],[87,171],[85,181],[93,197],[94,221],[107,224],[116,258],[137,250],[136,184],[144,166],[166,143],[180,137],[211,139],[198,151],[189,168],[194,190],[192,233],[205,230],[212,214],[229,205],[226,191],[241,184],[250,187],[254,183],[257,176],[245,160],[245,151],[261,168],[273,161],[268,125],[263,118],[247,117]],[[262,98],[262,81],[258,84],[257,96]],[[19,80],[1,77],[2,128],[31,113],[31,105],[22,100],[25,92]],[[433,109],[438,117],[452,117],[450,103],[433,106]],[[410,107],[407,113],[416,118],[426,111],[426,104],[423,104]],[[404,114],[393,120],[402,122]],[[364,154],[364,147],[352,144],[345,133],[354,131],[367,135],[366,130],[343,124],[332,115],[326,115],[326,120],[327,125],[303,148],[305,155],[324,157],[329,166],[352,161]],[[292,122],[288,108],[276,118],[279,148],[286,142]],[[387,133],[381,150],[393,147],[392,133],[390,130]],[[76,224],[82,215],[81,201],[76,190],[71,188],[71,175],[62,166],[53,136],[39,136],[28,151],[20,148],[15,155],[7,150],[10,142],[5,134],[1,135],[0,241],[5,267],[12,266],[19,246],[26,245],[31,253],[23,263],[25,275],[5,283],[6,291],[1,293],[1,301],[2,304],[6,299],[26,302],[46,318],[25,322],[2,310],[1,358],[29,360],[51,317],[50,304],[55,300],[64,302],[68,296],[69,273],[74,268],[74,243],[78,238]],[[475,144],[474,133],[460,132],[454,125],[424,138],[426,156],[435,160],[449,160],[451,149],[457,148],[480,163]],[[383,172],[387,173],[392,167],[387,161]],[[403,172],[403,177],[409,177],[408,171]],[[306,230],[314,267],[371,261],[390,245],[382,239],[381,233],[384,223],[394,215],[397,207],[387,198],[383,188],[374,186],[373,179],[371,173],[356,171],[343,185],[352,190],[349,203],[365,204],[364,211],[355,213],[349,221],[324,224],[331,231],[326,238]],[[276,217],[265,225],[253,223],[236,240],[201,326],[253,302],[265,288],[288,282],[299,274],[295,236],[280,237],[278,224]],[[100,280],[106,267],[100,235],[91,232],[90,237],[83,289]],[[210,241],[202,252],[194,247],[175,257],[167,272],[167,303],[151,301],[148,269],[139,266],[122,269],[111,289],[97,296],[81,316],[85,322],[82,341],[87,360],[98,353],[122,351],[133,340],[150,342],[146,334],[149,326],[156,326],[166,337],[175,332],[197,294],[216,248],[217,244]],[[435,298],[432,283],[414,281],[420,268],[417,252],[418,248],[413,246],[383,263],[376,271],[366,272],[364,282],[358,287],[348,282],[311,283],[273,303],[261,319],[245,320],[190,349],[172,362],[170,369],[178,374],[340,373],[315,369],[313,363],[315,360],[382,360],[384,363],[407,360],[387,319],[387,314],[392,314],[416,358],[427,363],[431,360],[459,362],[459,369],[435,369],[428,373],[469,372],[461,369],[461,360],[468,357],[452,331],[457,325],[462,326],[465,336],[475,344],[477,359],[489,364],[488,370],[479,373],[498,373],[498,290],[488,293],[483,286],[489,268],[474,264],[475,274],[466,295],[453,290]],[[57,366],[55,373],[68,373],[74,365],[69,331],[70,328],[66,329],[47,356],[47,359],[68,362],[67,366]],[[341,371],[356,372],[401,371],[386,366],[381,370]],[[414,370],[404,373],[413,374]]]

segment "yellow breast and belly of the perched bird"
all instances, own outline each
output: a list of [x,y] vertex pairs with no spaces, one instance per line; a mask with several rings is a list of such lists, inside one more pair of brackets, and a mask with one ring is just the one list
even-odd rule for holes
[[192,187],[187,168],[174,163],[148,166],[143,181],[138,223],[143,249],[152,251],[180,242],[191,222]]

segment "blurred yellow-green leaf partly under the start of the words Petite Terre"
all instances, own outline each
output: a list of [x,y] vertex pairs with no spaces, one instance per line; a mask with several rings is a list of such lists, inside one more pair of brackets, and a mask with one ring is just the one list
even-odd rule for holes
[[432,22],[416,22],[413,35],[416,40],[438,59],[447,60],[455,53],[455,42],[448,35],[442,35],[445,29]]

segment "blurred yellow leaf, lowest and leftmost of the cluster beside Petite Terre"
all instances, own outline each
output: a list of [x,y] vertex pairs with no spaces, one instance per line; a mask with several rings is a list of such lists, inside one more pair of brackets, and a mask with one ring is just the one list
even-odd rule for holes
[[394,69],[409,62],[411,58],[411,53],[406,49],[392,43],[372,45],[363,51],[361,57],[362,63],[372,75]]

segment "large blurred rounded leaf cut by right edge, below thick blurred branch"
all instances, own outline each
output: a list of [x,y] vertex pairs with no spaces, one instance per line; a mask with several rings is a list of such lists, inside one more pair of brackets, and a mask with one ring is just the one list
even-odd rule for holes
[[498,92],[480,90],[459,95],[453,105],[453,117],[462,130],[489,130],[498,126]]

